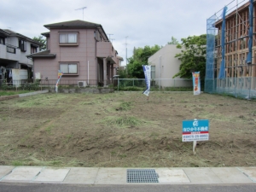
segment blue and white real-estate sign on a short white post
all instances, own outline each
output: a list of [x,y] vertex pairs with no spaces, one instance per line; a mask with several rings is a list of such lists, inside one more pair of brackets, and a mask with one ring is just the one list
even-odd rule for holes
[[209,120],[183,120],[183,142],[193,142],[193,153],[197,141],[209,140]]

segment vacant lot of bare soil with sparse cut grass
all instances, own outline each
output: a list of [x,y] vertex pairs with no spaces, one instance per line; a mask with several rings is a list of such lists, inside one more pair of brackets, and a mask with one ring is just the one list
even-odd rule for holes
[[[183,119],[210,140],[182,142]],[[256,166],[256,102],[188,92],[42,94],[0,102],[0,165]]]

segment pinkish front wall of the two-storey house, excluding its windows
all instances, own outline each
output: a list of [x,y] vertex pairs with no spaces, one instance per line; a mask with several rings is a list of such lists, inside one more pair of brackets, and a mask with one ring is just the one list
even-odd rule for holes
[[[41,74],[41,79],[57,79],[57,74],[61,61],[78,62],[78,75],[63,75],[62,79],[88,79],[88,61],[90,65],[89,79],[97,79],[96,65],[96,40],[94,29],[72,28],[72,29],[50,29],[48,38],[48,49],[51,54],[56,54],[55,58],[36,58],[34,66],[35,73]],[[60,46],[59,32],[79,32],[77,46]]]

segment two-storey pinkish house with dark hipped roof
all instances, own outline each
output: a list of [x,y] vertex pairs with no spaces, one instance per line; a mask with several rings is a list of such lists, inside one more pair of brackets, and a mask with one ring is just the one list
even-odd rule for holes
[[100,24],[71,20],[45,27],[49,29],[42,33],[47,50],[27,55],[34,61],[34,75],[38,79],[57,79],[61,70],[61,82],[65,84],[113,83],[113,75],[123,59],[117,56],[118,52]]

